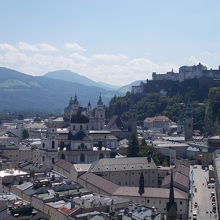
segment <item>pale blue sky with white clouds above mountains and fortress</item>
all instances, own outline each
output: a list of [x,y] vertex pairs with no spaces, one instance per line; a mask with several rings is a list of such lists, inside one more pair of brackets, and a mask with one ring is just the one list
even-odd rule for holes
[[220,65],[219,0],[0,0],[0,66],[125,85]]

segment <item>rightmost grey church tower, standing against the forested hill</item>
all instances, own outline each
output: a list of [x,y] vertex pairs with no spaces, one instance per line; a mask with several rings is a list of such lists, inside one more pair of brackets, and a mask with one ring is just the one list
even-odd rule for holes
[[192,108],[188,105],[185,113],[185,121],[184,121],[184,134],[185,140],[191,140],[193,137],[193,114]]

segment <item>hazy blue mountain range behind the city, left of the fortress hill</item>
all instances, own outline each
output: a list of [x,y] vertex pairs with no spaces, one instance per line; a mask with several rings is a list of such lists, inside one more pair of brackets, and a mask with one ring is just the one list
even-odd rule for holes
[[62,112],[75,94],[82,106],[90,101],[93,107],[100,94],[105,104],[122,95],[120,88],[67,70],[32,76],[0,67],[0,111]]

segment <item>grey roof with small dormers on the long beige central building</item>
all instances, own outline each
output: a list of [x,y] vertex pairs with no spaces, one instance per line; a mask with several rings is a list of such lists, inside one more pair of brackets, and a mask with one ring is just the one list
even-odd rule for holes
[[147,157],[103,158],[94,162],[89,171],[104,172],[156,168],[154,161],[151,160],[151,162],[148,162]]

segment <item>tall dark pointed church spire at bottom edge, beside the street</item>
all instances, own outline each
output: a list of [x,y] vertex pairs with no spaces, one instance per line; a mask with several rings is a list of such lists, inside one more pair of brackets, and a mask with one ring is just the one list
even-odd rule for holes
[[174,187],[173,187],[173,171],[171,171],[170,180],[170,196],[169,202],[167,203],[167,220],[177,219],[177,204],[174,200]]

